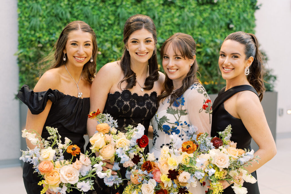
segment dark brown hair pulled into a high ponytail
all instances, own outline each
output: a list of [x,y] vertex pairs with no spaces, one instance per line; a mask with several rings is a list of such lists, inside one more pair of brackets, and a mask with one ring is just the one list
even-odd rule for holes
[[260,101],[262,101],[265,92],[263,79],[265,72],[262,61],[262,53],[259,50],[259,42],[257,37],[254,34],[239,31],[228,35],[224,41],[226,40],[234,40],[243,44],[245,46],[246,60],[251,56],[254,58],[253,63],[249,67],[250,74],[247,75],[246,78],[258,92]]

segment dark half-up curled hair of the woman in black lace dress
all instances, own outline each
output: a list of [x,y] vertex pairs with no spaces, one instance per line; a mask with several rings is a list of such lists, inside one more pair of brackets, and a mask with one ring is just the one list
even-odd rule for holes
[[129,51],[127,51],[127,41],[129,36],[134,33],[136,30],[140,29],[146,29],[150,33],[152,33],[152,36],[154,38],[155,42],[155,49],[148,60],[148,66],[149,66],[149,76],[145,79],[145,86],[143,89],[145,90],[151,90],[154,86],[154,82],[159,79],[159,72],[158,72],[158,62],[157,62],[157,31],[156,26],[149,16],[136,14],[131,17],[129,17],[125,24],[123,29],[123,55],[120,60],[120,67],[122,69],[122,72],[124,74],[123,80],[119,82],[119,87],[121,88],[121,83],[124,81],[127,82],[127,85],[125,89],[131,89],[136,85],[136,74],[132,71],[130,68],[130,55]]

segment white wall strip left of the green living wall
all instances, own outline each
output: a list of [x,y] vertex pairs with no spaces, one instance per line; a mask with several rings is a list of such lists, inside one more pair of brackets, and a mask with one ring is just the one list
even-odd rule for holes
[[20,132],[17,56],[18,45],[17,0],[1,0],[1,63],[0,63],[0,168],[19,165]]

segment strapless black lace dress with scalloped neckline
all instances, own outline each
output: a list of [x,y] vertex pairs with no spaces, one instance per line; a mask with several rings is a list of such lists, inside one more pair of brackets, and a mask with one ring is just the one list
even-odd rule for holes
[[[117,130],[120,132],[126,132],[124,128],[129,124],[136,127],[140,123],[145,127],[144,134],[148,135],[150,120],[156,111],[157,92],[145,93],[143,96],[139,96],[137,93],[123,90],[121,93],[116,91],[113,94],[108,94],[103,113],[109,113],[114,120],[117,120]],[[145,147],[144,153],[147,154],[148,152],[149,149],[147,146]],[[123,179],[125,179],[126,169],[124,167],[120,168]],[[126,186],[127,181],[123,181],[123,185],[120,185],[116,189],[114,187],[108,187],[104,184],[103,179],[97,177],[94,188],[95,191],[100,191],[102,194],[121,194]]]

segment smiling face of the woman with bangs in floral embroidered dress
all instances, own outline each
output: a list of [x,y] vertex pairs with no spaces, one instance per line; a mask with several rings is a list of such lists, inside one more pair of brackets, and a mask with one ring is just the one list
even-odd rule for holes
[[174,89],[182,86],[182,80],[188,74],[191,65],[194,63],[194,59],[183,58],[178,49],[175,52],[171,43],[166,46],[162,64],[167,76],[173,80]]

